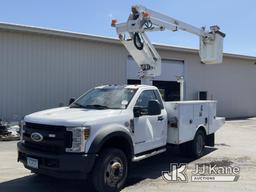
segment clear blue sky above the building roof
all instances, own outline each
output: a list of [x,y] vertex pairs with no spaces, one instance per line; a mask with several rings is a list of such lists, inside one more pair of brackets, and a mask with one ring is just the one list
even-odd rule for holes
[[[224,51],[256,56],[255,0],[0,0],[0,22],[116,37],[112,18],[126,21],[131,5],[141,4],[197,27],[219,25]],[[156,32],[155,43],[198,48],[185,32]]]

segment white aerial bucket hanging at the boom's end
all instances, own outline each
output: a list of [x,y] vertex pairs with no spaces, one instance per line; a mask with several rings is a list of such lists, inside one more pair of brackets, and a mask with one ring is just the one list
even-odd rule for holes
[[223,38],[225,34],[216,31],[214,38],[200,38],[199,55],[201,61],[205,64],[219,64],[222,63],[223,57]]

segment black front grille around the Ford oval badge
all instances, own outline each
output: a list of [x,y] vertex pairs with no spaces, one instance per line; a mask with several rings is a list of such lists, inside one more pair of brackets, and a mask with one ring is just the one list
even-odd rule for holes
[[[66,131],[64,126],[26,123],[23,130],[24,146],[32,150],[59,154],[64,153],[65,148],[72,146],[72,133]],[[32,133],[40,133],[43,140],[40,142],[33,141],[31,139]]]

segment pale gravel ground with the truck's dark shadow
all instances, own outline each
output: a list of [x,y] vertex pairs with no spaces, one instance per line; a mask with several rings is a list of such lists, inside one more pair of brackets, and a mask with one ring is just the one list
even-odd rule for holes
[[[123,191],[177,191],[177,192],[227,192],[256,191],[256,118],[227,121],[216,134],[216,145],[208,148],[200,159],[181,157],[173,148],[169,152],[132,165],[127,186]],[[0,192],[49,192],[93,191],[86,181],[67,181],[31,174],[17,163],[16,141],[0,142]],[[162,171],[170,169],[170,163],[188,163],[188,178],[195,164],[238,166],[237,182],[168,183],[162,179]]]

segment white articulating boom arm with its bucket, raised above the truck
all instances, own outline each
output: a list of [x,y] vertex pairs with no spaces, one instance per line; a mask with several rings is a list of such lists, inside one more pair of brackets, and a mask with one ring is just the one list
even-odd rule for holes
[[[183,30],[200,37],[200,58],[205,64],[222,63],[223,38],[225,34],[218,26],[197,28],[172,17],[163,15],[143,6],[133,6],[125,23],[112,20],[120,41],[140,67],[140,78],[144,84],[161,74],[161,57],[151,44],[145,32]],[[128,38],[126,37],[128,36]]]

